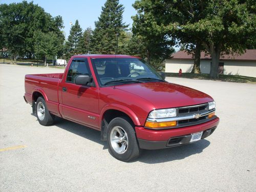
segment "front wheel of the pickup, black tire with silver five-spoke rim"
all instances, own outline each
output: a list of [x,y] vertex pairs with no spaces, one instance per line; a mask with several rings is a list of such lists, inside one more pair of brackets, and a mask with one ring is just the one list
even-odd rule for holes
[[140,155],[134,128],[126,117],[116,117],[109,123],[106,141],[110,154],[120,161],[132,161]]

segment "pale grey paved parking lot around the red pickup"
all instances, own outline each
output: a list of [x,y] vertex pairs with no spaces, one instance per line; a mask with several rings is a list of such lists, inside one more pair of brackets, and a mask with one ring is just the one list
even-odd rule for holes
[[100,132],[31,115],[24,75],[62,71],[0,65],[0,191],[255,191],[256,84],[166,78],[211,95],[220,124],[205,140],[124,163]]

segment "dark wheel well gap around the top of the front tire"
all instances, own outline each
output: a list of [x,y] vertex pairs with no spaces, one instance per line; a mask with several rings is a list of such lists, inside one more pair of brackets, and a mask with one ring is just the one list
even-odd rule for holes
[[101,121],[101,140],[102,141],[106,141],[106,129],[108,128],[110,121],[116,117],[125,117],[125,119],[128,120],[134,127],[134,122],[129,117],[129,115],[118,110],[107,110],[103,114],[103,119]]

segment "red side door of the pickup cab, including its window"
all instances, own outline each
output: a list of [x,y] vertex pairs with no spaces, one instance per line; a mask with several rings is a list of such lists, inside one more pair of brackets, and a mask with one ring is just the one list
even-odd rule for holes
[[64,118],[98,129],[98,93],[95,83],[80,86],[74,83],[77,75],[92,75],[87,58],[74,58],[65,81],[61,82],[60,108]]

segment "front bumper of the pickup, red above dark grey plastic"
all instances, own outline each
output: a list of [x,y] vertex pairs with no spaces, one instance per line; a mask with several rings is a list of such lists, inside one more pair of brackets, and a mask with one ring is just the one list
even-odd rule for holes
[[201,139],[211,135],[219,124],[220,119],[206,123],[169,130],[148,130],[144,127],[135,127],[140,148],[157,150],[160,148],[173,147],[188,144],[192,133],[203,132]]

